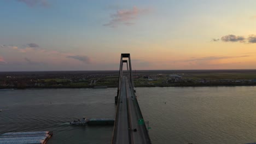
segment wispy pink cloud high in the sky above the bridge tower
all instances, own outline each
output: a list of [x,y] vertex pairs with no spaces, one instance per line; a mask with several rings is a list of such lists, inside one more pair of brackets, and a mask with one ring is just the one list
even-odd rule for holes
[[132,9],[118,10],[117,13],[110,15],[111,20],[103,26],[118,27],[118,25],[131,26],[135,24],[132,20],[137,19],[139,15],[146,14],[149,9],[138,9],[133,7]]

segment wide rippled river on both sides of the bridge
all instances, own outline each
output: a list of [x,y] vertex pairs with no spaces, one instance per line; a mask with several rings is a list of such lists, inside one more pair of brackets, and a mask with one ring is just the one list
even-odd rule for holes
[[[152,143],[256,142],[256,87],[136,88]],[[71,126],[114,118],[117,88],[0,91],[0,134],[54,131],[48,143],[110,143],[112,126]]]

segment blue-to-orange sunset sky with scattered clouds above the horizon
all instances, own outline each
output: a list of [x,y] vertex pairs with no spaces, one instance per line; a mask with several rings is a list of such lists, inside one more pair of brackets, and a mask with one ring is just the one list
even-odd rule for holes
[[255,0],[0,0],[0,71],[256,69]]

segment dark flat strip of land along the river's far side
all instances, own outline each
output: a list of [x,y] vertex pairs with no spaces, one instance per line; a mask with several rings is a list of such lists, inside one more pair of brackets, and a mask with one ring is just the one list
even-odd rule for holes
[[[0,73],[0,88],[114,88],[118,79],[118,71]],[[144,70],[133,80],[135,87],[256,86],[256,70]]]

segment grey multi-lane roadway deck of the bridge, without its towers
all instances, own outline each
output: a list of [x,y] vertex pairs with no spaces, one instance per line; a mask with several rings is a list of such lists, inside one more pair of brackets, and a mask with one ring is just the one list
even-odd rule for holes
[[139,124],[139,119],[143,117],[133,87],[130,81],[123,77],[112,143],[151,143],[146,125]]

